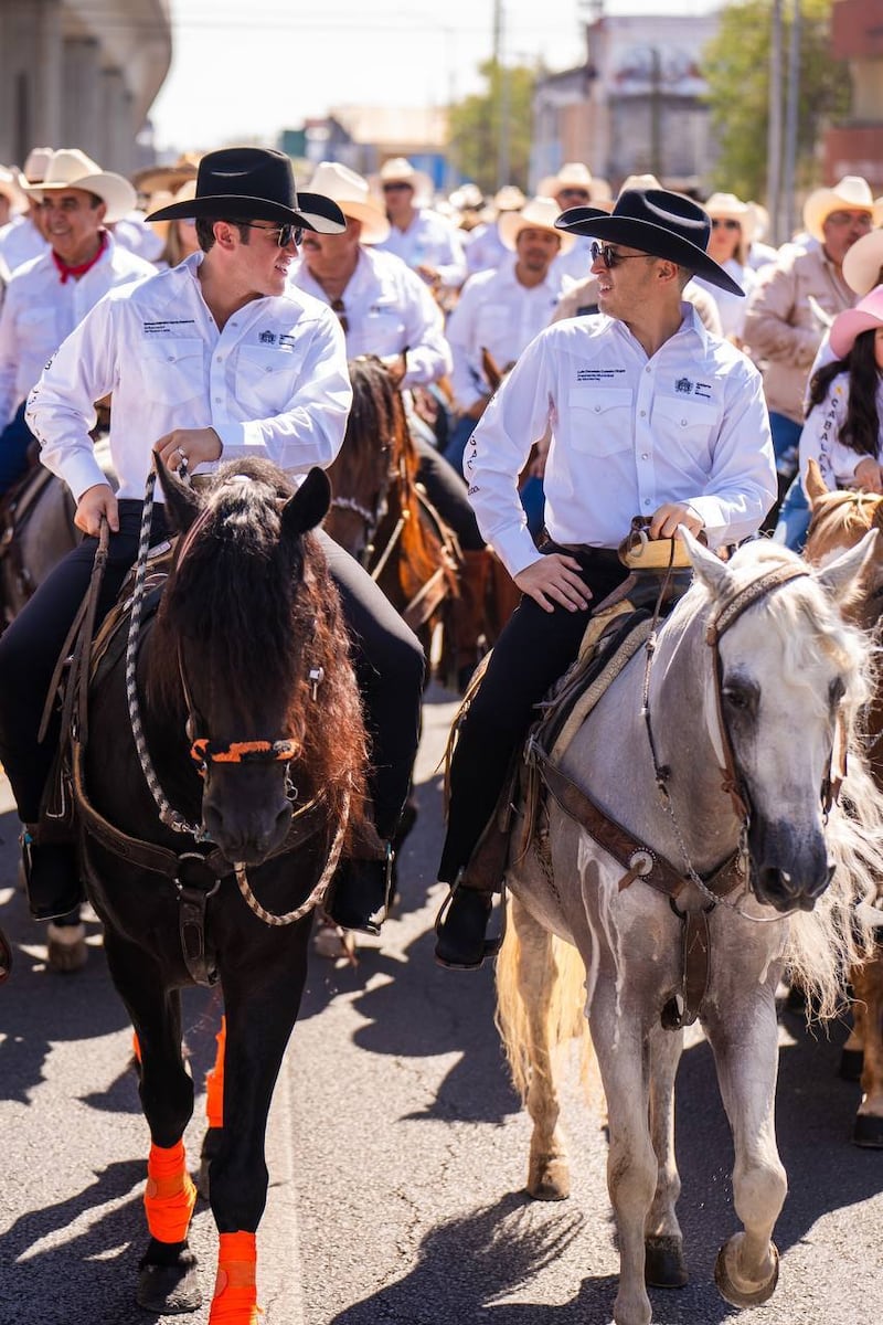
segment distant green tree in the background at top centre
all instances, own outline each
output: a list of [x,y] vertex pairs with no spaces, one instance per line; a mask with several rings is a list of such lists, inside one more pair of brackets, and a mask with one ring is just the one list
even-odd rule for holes
[[[466,97],[450,109],[451,164],[465,179],[474,180],[483,193],[494,193],[500,184],[518,184],[527,191],[536,70],[488,60],[481,65],[479,73],[486,81],[486,90]],[[508,179],[498,179],[503,103],[508,132]]]

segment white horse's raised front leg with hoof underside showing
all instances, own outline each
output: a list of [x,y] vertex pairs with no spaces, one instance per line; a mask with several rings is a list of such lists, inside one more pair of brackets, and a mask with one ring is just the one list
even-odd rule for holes
[[718,1064],[718,1081],[733,1134],[733,1203],[744,1232],[720,1248],[715,1281],[733,1306],[752,1306],[772,1296],[778,1252],[772,1232],[785,1202],[788,1181],[776,1146],[776,1075],[778,1028],[773,988],[732,991],[710,1006],[706,1030]]

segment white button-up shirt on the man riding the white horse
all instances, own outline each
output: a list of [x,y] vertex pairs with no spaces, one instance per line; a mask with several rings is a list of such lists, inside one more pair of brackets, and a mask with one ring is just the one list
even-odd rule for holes
[[548,423],[545,523],[617,547],[633,515],[688,502],[712,547],[753,534],[776,496],[761,378],[691,305],[651,359],[624,322],[556,322],[518,360],[463,456],[478,526],[516,575],[537,559],[518,476]]

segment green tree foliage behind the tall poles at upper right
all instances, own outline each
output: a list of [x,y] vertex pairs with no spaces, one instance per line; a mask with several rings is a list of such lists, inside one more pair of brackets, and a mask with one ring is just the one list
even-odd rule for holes
[[[788,97],[788,50],[793,4],[782,5],[782,126]],[[817,155],[822,130],[845,115],[850,103],[849,66],[831,58],[834,0],[800,0],[801,69],[797,109],[797,187],[818,182]],[[773,0],[731,0],[708,42],[703,73],[708,81],[712,135],[719,148],[712,187],[740,197],[767,193],[769,126],[769,57]]]

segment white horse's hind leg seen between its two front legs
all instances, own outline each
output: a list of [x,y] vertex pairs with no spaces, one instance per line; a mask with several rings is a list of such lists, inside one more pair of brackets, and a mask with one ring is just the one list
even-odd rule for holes
[[650,1137],[657,1157],[657,1190],[646,1223],[645,1279],[657,1288],[683,1288],[687,1264],[675,1214],[680,1177],[675,1158],[675,1075],[683,1032],[662,1024],[650,1032]]

